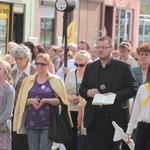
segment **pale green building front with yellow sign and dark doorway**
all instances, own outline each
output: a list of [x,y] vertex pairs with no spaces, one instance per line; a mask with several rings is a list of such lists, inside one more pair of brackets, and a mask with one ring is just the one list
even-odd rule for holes
[[0,53],[7,53],[9,41],[21,43],[34,36],[34,0],[0,1]]

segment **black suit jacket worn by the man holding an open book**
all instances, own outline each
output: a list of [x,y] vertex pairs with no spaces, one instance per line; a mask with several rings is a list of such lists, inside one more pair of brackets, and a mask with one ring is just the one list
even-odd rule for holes
[[[100,60],[89,63],[86,66],[82,84],[79,90],[80,95],[85,98],[87,104],[84,113],[84,126],[87,128],[93,121],[96,107],[92,105],[93,98],[87,97],[87,91],[92,88],[99,89],[99,66]],[[137,84],[131,66],[120,60],[112,59],[109,68],[109,78],[107,79],[107,92],[116,94],[113,105],[102,106],[108,110],[112,121],[121,126],[124,130],[129,120],[128,99],[135,96],[137,92]]]

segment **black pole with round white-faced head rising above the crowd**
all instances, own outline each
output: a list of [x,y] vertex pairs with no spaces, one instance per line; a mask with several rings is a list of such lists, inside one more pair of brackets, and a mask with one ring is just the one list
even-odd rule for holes
[[67,67],[67,13],[71,12],[75,8],[75,2],[73,0],[57,0],[55,3],[55,8],[64,12],[63,16],[63,36],[65,41],[65,49],[64,49],[64,67]]

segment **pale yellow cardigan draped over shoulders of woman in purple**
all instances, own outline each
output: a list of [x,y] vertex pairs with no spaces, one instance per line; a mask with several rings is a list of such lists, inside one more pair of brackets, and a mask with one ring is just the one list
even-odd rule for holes
[[[14,113],[14,120],[13,120],[13,131],[16,131],[17,133],[20,133],[20,134],[26,134],[26,128],[24,124],[25,124],[26,114],[27,114],[28,93],[29,93],[29,90],[34,85],[36,76],[37,76],[37,73],[23,80],[21,88],[20,88],[20,92],[18,95],[18,99],[17,99],[17,103],[15,107],[15,113]],[[64,104],[68,105],[67,94],[66,94],[63,81],[58,76],[53,75],[51,73],[48,73],[48,79],[54,92],[61,98]],[[70,114],[69,114],[69,117],[70,117]],[[71,117],[70,117],[70,121],[72,125]]]

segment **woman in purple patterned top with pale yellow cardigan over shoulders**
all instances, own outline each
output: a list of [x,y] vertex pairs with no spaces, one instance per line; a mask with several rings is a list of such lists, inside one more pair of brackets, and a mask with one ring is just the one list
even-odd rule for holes
[[49,73],[51,63],[47,53],[37,55],[37,73],[23,81],[15,108],[13,130],[18,134],[27,133],[30,150],[51,149],[52,141],[48,139],[50,105],[58,106],[60,98],[68,104],[63,81]]

